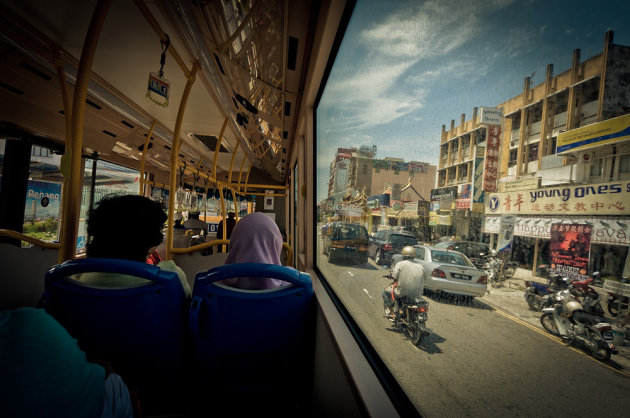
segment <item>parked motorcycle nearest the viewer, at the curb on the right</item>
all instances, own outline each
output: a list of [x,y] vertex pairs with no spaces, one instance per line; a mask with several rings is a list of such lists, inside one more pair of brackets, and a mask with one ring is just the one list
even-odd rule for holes
[[568,291],[552,308],[543,309],[540,323],[552,335],[568,343],[580,343],[599,361],[608,361],[618,351],[612,343],[612,326],[606,318],[584,312],[582,304]]

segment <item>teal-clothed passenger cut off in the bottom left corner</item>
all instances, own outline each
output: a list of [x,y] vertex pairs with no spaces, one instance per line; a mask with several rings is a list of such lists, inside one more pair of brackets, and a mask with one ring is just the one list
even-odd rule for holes
[[86,360],[43,309],[0,311],[3,417],[133,417],[120,376]]

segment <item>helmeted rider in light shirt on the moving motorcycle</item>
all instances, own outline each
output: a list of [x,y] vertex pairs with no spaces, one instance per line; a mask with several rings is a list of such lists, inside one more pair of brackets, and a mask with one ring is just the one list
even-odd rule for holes
[[396,316],[394,305],[398,306],[398,300],[404,296],[422,295],[424,291],[424,268],[413,261],[416,249],[407,246],[402,250],[402,261],[394,266],[392,276],[396,279],[391,286],[383,290],[383,304],[385,316],[393,319]]

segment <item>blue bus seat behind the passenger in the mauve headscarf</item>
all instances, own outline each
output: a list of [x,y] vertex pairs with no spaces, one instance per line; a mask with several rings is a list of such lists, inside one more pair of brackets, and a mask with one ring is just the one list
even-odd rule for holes
[[[291,284],[243,290],[215,283],[232,277],[271,277]],[[310,275],[291,267],[239,263],[197,274],[189,329],[206,381],[215,389],[237,392],[304,390],[296,378],[308,379],[303,366],[312,367],[313,300]]]

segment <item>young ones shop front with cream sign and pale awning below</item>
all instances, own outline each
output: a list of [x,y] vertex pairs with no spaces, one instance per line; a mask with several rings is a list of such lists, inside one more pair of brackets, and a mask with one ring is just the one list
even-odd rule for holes
[[[536,274],[550,264],[553,224],[592,226],[588,273],[630,274],[630,182],[494,193],[488,198],[485,234],[497,234],[501,215],[516,216],[510,257]],[[496,241],[491,235],[491,243]]]

